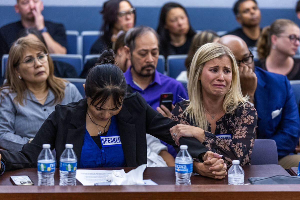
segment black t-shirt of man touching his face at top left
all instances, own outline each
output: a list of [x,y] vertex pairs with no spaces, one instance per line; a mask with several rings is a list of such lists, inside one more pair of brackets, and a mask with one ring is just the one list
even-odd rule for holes
[[[45,27],[53,40],[67,48],[67,36],[63,24],[45,21]],[[9,52],[10,46],[18,39],[16,37],[23,28],[21,21],[10,23],[0,28],[0,61],[2,55]]]

